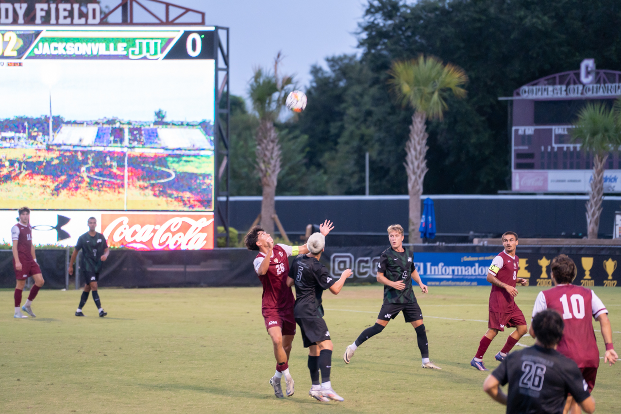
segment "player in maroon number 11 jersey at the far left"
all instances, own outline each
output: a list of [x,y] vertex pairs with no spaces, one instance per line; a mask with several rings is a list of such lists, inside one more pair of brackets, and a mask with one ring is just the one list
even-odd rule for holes
[[[43,286],[43,275],[39,264],[37,264],[37,258],[35,256],[35,246],[32,244],[32,227],[30,227],[30,209],[28,207],[22,207],[19,209],[19,222],[11,228],[11,239],[13,241],[13,268],[15,269],[15,278],[17,284],[15,287],[15,315],[14,318],[27,318],[22,313],[27,312],[35,318],[35,314],[30,308],[30,304],[37,297],[39,289]],[[30,288],[30,294],[26,304],[22,306],[22,292],[24,291],[24,285],[26,279],[32,276],[35,284]]]

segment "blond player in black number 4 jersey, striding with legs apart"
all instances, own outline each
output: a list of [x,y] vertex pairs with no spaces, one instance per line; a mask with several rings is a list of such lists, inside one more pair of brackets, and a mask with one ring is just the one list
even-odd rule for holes
[[353,344],[347,346],[343,360],[349,364],[358,346],[371,336],[383,331],[391,319],[396,318],[399,312],[403,312],[406,323],[412,323],[416,331],[416,339],[422,356],[422,367],[442,369],[429,361],[427,332],[423,323],[423,313],[414,296],[414,290],[412,290],[412,279],[419,284],[423,293],[427,293],[428,289],[420,280],[419,272],[414,266],[412,253],[403,247],[403,227],[399,224],[388,227],[388,238],[391,246],[379,256],[377,275],[378,282],[384,284],[384,304],[379,310],[375,325],[366,328]]

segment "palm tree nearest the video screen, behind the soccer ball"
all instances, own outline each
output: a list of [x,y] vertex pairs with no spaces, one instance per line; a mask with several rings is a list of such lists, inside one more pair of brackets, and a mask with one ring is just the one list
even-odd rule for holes
[[260,66],[250,81],[250,100],[259,117],[256,128],[256,169],[261,176],[263,200],[261,200],[261,227],[267,233],[274,232],[274,197],[281,169],[281,151],[278,143],[278,131],[274,121],[283,109],[287,94],[292,90],[293,79],[280,75],[278,68],[283,60],[280,52],[274,59],[274,71],[266,71]]

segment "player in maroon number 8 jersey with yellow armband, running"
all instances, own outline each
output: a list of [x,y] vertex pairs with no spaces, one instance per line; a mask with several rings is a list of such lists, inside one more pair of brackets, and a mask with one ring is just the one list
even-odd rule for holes
[[517,277],[519,270],[519,259],[515,256],[517,247],[517,234],[506,232],[502,235],[502,245],[504,251],[492,261],[487,271],[487,281],[492,284],[492,291],[489,294],[489,321],[487,322],[487,332],[479,342],[479,349],[470,361],[470,365],[479,371],[489,371],[483,364],[483,355],[492,340],[498,335],[498,331],[504,328],[515,326],[515,331],[509,335],[507,342],[501,351],[494,358],[498,361],[505,359],[509,351],[515,346],[517,341],[526,334],[526,319],[524,313],[515,304],[514,297],[517,296],[517,283],[526,286],[528,281]]

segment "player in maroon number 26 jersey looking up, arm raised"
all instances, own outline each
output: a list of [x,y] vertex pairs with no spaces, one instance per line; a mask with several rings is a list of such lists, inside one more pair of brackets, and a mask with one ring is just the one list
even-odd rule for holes
[[[327,236],[334,227],[332,222],[325,220],[319,226],[322,235]],[[294,393],[294,380],[289,374],[289,353],[291,343],[296,335],[296,320],[293,314],[295,300],[291,287],[287,286],[289,273],[289,256],[309,253],[306,245],[288,246],[274,245],[271,235],[260,226],[250,229],[244,238],[244,245],[248,250],[258,250],[259,253],[253,262],[255,271],[263,285],[261,313],[265,320],[265,328],[270,334],[276,357],[276,374],[270,379],[274,387],[274,395],[283,398],[280,380],[284,375],[288,397]]]

